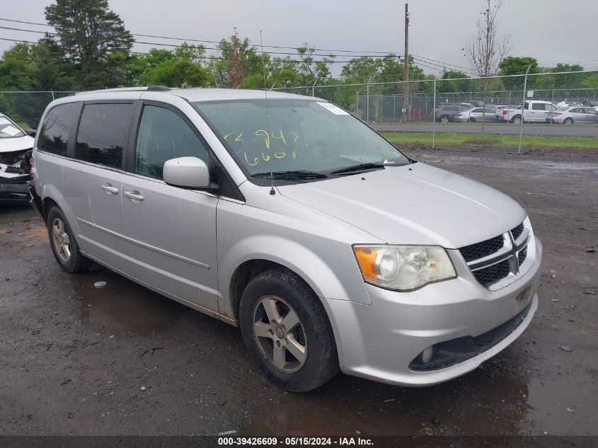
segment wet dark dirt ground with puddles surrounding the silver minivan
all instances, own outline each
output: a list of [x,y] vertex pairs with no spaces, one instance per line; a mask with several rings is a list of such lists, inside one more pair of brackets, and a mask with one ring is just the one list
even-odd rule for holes
[[598,158],[415,157],[511,195],[544,243],[539,311],[497,357],[429,388],[338,374],[287,393],[236,328],[103,268],[63,272],[37,212],[0,206],[0,434],[598,435]]

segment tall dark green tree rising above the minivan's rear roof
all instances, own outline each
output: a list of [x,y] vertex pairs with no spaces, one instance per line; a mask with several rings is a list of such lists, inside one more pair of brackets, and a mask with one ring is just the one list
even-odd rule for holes
[[47,35],[53,56],[69,67],[76,87],[125,84],[133,37],[107,0],[56,0],[45,8],[55,35]]

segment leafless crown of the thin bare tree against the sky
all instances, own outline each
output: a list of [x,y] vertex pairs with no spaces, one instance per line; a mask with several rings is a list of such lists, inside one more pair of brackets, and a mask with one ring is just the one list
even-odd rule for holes
[[466,47],[466,57],[478,76],[492,76],[498,71],[498,64],[510,49],[508,36],[500,36],[498,13],[502,0],[485,0],[483,11],[476,23],[476,34]]

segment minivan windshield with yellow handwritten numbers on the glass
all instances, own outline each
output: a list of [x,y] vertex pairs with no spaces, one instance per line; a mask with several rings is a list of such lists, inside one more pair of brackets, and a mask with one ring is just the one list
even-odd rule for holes
[[[401,166],[401,151],[345,110],[319,100],[193,103],[249,176],[319,180],[335,171]],[[345,169],[347,168],[347,169]],[[288,178],[288,177],[287,177]]]

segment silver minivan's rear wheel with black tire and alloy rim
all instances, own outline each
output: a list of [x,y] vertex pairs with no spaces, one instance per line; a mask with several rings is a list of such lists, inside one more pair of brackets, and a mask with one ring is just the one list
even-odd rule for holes
[[79,251],[79,244],[62,210],[57,206],[52,207],[46,222],[50,247],[59,266],[67,272],[88,269],[92,262]]

